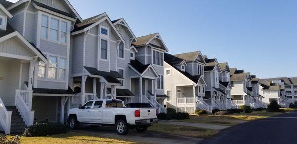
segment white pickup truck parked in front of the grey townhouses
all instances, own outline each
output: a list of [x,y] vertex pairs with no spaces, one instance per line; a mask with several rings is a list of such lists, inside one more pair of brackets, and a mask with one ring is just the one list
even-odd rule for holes
[[156,108],[127,108],[118,99],[96,99],[68,112],[68,124],[71,129],[82,125],[115,126],[119,135],[125,135],[129,129],[136,128],[144,132],[148,126],[157,123]]

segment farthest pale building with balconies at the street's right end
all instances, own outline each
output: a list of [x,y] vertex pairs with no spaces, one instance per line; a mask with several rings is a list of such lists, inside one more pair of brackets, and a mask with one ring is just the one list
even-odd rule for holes
[[282,107],[289,107],[290,104],[297,103],[297,78],[268,78],[260,79],[263,87],[263,100],[269,103],[277,101]]

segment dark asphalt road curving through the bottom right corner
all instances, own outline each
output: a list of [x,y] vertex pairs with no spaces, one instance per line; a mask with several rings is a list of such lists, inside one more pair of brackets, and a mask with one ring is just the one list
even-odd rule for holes
[[227,128],[200,144],[297,144],[297,112]]

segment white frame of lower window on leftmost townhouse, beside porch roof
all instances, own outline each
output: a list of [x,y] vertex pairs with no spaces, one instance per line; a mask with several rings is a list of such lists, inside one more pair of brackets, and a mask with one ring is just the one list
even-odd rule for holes
[[[49,75],[49,64],[46,64],[46,69],[45,69],[45,77],[42,78],[42,77],[38,77],[38,80],[43,80],[43,81],[52,81],[52,82],[66,82],[66,78],[68,77],[68,74],[67,74],[67,57],[66,56],[61,56],[61,55],[55,55],[55,54],[49,54],[49,53],[46,53],[44,52],[44,55],[47,57],[47,59],[49,59],[49,56],[53,56],[53,57],[57,57],[57,70],[56,70],[56,78],[55,79],[50,79],[48,78],[48,75]],[[65,59],[65,66],[66,66],[66,69],[65,70],[65,77],[64,79],[59,79],[60,75],[59,75],[59,71],[60,71],[60,58],[64,58]],[[38,75],[38,72],[37,72],[37,75]]]

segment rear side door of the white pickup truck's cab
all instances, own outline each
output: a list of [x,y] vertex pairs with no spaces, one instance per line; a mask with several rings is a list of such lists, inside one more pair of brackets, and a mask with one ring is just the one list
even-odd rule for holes
[[90,109],[90,121],[92,123],[102,123],[103,116],[103,101],[97,100],[95,101],[93,108]]

